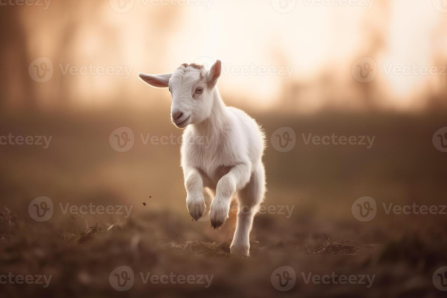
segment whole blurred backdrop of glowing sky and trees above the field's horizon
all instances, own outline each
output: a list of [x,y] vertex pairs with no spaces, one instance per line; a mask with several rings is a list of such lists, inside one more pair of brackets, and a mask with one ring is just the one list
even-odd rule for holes
[[[446,66],[447,19],[441,12],[445,10],[442,0],[354,1],[357,5],[290,1],[293,9],[288,13],[275,10],[272,1],[80,0],[4,5],[1,19],[8,30],[2,38],[8,42],[1,46],[2,108],[163,109],[169,103],[169,99],[161,101],[166,93],[140,84],[138,72],[166,73],[203,58],[223,61],[225,76],[219,87],[229,104],[243,101],[256,110],[445,108],[447,71],[438,71],[443,75],[387,71],[390,66],[413,64]],[[54,67],[45,84],[30,80],[27,71],[40,57],[51,59]],[[353,64],[363,57],[371,57],[378,66],[370,84],[359,84],[351,74]],[[128,67],[131,73],[61,71],[89,65]],[[287,75],[279,69],[274,75],[232,71],[251,65],[292,71]]]

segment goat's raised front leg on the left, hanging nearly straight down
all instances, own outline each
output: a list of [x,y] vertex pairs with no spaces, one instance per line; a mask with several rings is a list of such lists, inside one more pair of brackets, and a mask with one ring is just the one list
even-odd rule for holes
[[203,180],[197,169],[185,173],[186,207],[191,216],[198,220],[207,209],[203,197]]

